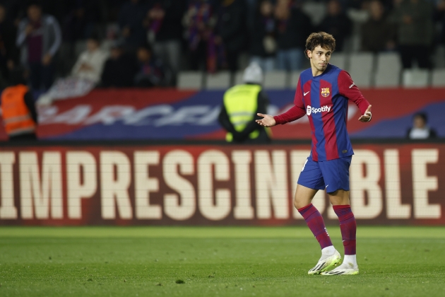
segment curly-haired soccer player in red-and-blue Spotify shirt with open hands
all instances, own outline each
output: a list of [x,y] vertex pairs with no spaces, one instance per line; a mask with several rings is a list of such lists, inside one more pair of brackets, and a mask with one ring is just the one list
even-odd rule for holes
[[[346,130],[348,100],[361,112],[360,122],[371,120],[371,105],[364,99],[348,72],[329,64],[336,49],[336,40],[324,32],[312,33],[306,40],[305,55],[311,68],[299,76],[294,104],[287,112],[263,117],[256,122],[264,127],[292,122],[304,114],[309,117],[312,129],[312,151],[302,168],[295,191],[294,205],[302,214],[321,246],[321,258],[308,274],[358,274],[355,256],[357,225],[349,202],[349,167],[354,152]],[[340,221],[345,248],[343,263],[340,253],[333,247],[331,238],[319,211],[312,205],[318,190],[326,190]]]

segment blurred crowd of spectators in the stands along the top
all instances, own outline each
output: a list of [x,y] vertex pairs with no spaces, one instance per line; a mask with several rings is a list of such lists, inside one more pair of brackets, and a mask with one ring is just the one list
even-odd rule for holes
[[[310,13],[304,6],[324,8]],[[0,87],[23,67],[34,90],[174,86],[178,71],[264,71],[304,66],[309,33],[350,52],[397,51],[404,68],[432,67],[445,42],[445,0],[9,0],[0,1]],[[55,78],[58,78],[55,80]]]

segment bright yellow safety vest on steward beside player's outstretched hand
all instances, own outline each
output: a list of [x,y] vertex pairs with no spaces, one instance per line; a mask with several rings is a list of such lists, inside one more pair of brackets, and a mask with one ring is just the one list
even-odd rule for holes
[[[238,132],[244,130],[251,120],[254,119],[258,107],[258,94],[261,91],[259,85],[238,85],[230,88],[224,94],[224,106],[227,110],[230,122]],[[250,139],[256,139],[259,130],[249,134]],[[232,133],[227,133],[225,140],[233,141]]]

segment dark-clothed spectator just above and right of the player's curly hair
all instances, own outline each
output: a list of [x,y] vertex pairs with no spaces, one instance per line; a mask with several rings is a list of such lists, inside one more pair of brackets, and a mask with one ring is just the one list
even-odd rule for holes
[[329,33],[336,39],[337,52],[344,50],[345,40],[352,33],[352,21],[342,11],[338,0],[328,2],[328,15],[321,21],[319,27],[320,31]]

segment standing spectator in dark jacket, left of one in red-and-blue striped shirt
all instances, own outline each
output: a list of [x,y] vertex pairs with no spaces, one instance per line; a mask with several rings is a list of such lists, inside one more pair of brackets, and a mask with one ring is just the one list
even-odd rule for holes
[[152,0],[148,11],[148,28],[153,52],[172,69],[179,70],[182,40],[182,18],[186,12],[184,0]]

